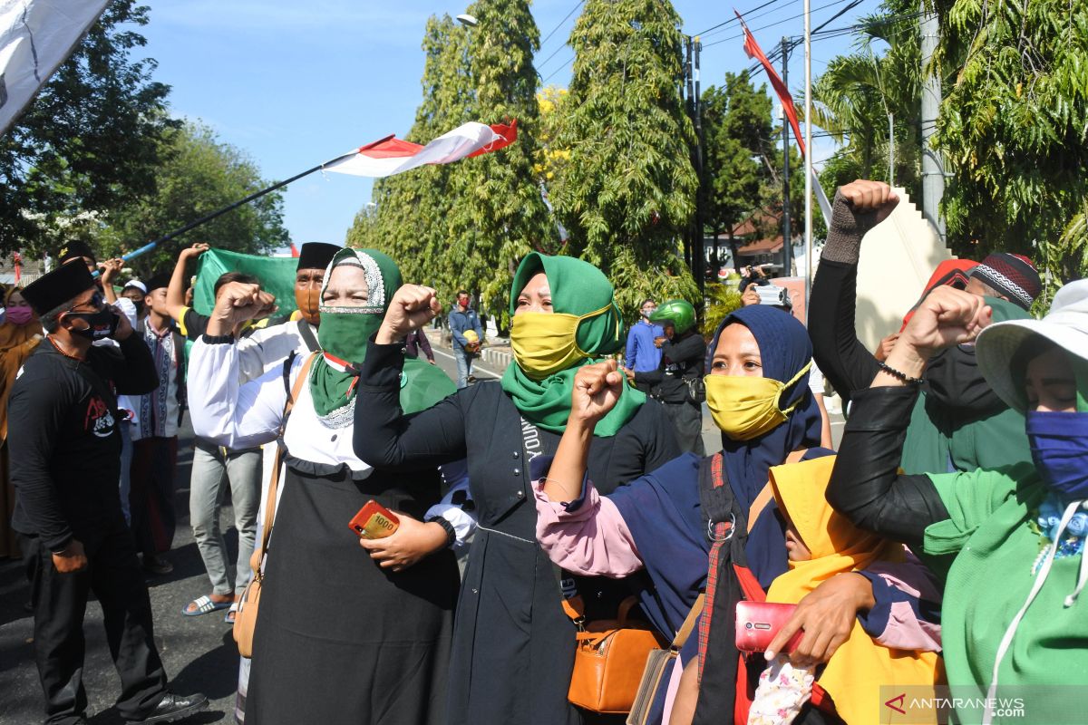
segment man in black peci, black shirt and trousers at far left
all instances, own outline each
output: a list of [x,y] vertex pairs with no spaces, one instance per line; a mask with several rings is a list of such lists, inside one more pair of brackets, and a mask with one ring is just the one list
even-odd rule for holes
[[[47,332],[16,376],[8,445],[16,502],[12,527],[34,604],[34,649],[46,723],[84,723],[83,617],[94,592],[121,675],[118,710],[129,723],[172,722],[208,707],[166,690],[151,604],[121,512],[116,392],[158,387],[147,346],[107,307],[87,267],[70,262],[28,285]],[[112,337],[119,347],[96,347]]]

